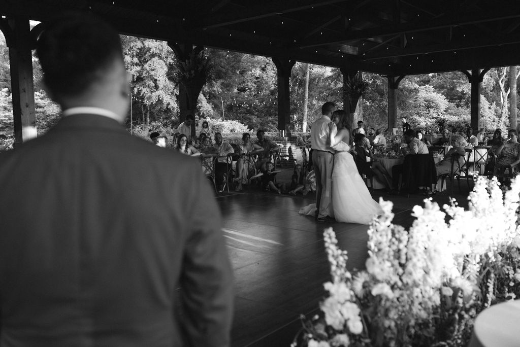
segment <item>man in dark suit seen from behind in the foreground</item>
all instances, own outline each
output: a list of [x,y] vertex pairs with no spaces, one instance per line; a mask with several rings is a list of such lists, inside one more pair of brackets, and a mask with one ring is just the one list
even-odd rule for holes
[[0,155],[0,345],[228,346],[218,207],[196,159],[123,127],[118,34],[69,16],[37,54],[63,117]]

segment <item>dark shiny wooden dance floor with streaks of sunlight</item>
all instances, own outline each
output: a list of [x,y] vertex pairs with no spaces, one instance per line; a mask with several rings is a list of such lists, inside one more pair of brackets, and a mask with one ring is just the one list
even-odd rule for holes
[[[460,205],[467,206],[467,186],[462,195],[455,191]],[[373,197],[379,196],[394,202],[394,223],[405,228],[413,221],[411,208],[424,198],[375,191]],[[434,200],[442,206],[448,194],[437,193]],[[312,193],[290,197],[252,190],[218,196],[217,202],[235,271],[232,347],[287,347],[301,326],[300,314],[311,317],[318,312],[323,283],[330,280],[323,244],[327,226],[334,228],[340,246],[348,251],[350,269],[365,267],[368,225],[322,223],[299,215],[301,207],[314,202]]]

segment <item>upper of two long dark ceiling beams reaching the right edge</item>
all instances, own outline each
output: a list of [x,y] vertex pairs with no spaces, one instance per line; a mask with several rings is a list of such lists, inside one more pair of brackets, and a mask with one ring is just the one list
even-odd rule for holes
[[495,14],[490,13],[489,11],[486,13],[478,12],[471,16],[446,16],[445,18],[437,18],[430,22],[420,22],[420,23],[403,23],[400,25],[389,25],[389,26],[381,26],[378,28],[370,28],[357,30],[347,35],[334,35],[330,36],[328,39],[321,40],[308,40],[307,42],[300,43],[298,47],[300,48],[308,48],[308,47],[316,47],[316,46],[324,46],[335,43],[345,43],[350,41],[358,41],[360,39],[367,39],[370,37],[376,36],[394,36],[397,34],[406,34],[406,33],[414,33],[421,31],[430,31],[441,28],[447,28],[449,26],[460,26],[460,25],[469,25],[476,23],[485,23],[491,21],[498,21],[503,19],[510,18],[519,18],[520,17],[520,6],[511,7],[511,8],[503,8],[500,11],[496,11]]

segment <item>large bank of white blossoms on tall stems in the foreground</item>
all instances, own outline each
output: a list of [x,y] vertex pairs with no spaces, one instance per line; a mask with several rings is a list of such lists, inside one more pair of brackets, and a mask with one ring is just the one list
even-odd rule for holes
[[366,270],[354,273],[326,229],[329,296],[321,316],[302,317],[293,346],[466,346],[480,311],[520,295],[519,193],[520,179],[502,191],[496,178],[477,177],[467,210],[425,199],[408,231],[380,199]]

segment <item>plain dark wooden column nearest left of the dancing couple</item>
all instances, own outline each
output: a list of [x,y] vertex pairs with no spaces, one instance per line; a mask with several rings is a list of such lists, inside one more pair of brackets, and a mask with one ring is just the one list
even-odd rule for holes
[[291,89],[289,88],[289,80],[291,78],[291,70],[296,61],[281,58],[272,58],[276,65],[277,84],[278,84],[278,130],[284,130],[285,134],[289,134],[289,125],[291,124]]

